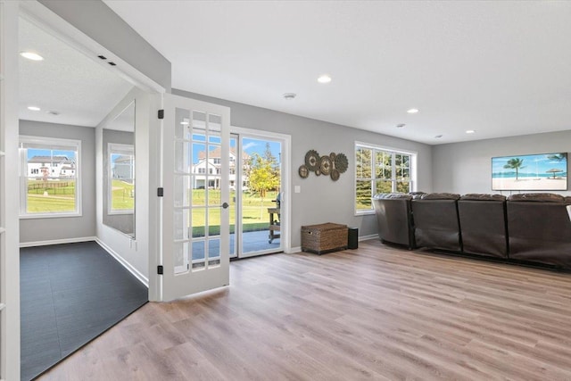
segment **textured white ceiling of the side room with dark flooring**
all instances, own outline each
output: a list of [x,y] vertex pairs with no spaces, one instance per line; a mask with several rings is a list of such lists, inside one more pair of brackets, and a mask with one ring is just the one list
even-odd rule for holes
[[[39,62],[19,58],[21,120],[95,127],[133,87],[30,21],[20,19],[18,37],[21,52],[44,57]],[[41,111],[29,111],[28,106]]]

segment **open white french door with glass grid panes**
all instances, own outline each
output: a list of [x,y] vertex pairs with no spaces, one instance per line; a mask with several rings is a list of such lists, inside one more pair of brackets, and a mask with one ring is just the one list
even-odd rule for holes
[[162,300],[229,283],[230,109],[164,95]]

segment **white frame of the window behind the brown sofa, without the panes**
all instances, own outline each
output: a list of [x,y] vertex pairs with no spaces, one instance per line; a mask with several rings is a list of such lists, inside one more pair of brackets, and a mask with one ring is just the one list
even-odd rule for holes
[[394,148],[386,145],[372,145],[369,143],[363,143],[359,141],[355,141],[353,158],[354,160],[354,177],[353,177],[353,208],[355,216],[362,216],[367,214],[374,214],[375,209],[373,207],[373,203],[371,201],[370,209],[357,209],[357,182],[363,181],[361,178],[357,178],[357,150],[359,149],[369,149],[372,151],[371,155],[371,178],[367,178],[371,181],[371,199],[374,195],[377,195],[377,160],[375,159],[377,156],[377,152],[384,152],[384,153],[391,153],[392,155],[392,175],[391,175],[391,188],[393,189],[392,192],[396,192],[396,168],[395,168],[395,154],[406,154],[410,156],[410,192],[417,191],[417,160],[418,160],[418,152],[416,151],[409,151],[404,150],[401,148]]

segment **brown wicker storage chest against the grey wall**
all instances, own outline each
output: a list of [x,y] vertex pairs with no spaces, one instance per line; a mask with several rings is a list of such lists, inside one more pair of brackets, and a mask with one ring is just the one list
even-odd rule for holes
[[331,253],[347,248],[347,225],[327,224],[302,227],[302,251]]

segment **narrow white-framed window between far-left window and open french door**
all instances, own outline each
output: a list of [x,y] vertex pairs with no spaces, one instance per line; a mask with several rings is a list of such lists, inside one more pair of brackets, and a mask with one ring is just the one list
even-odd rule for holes
[[135,147],[109,143],[108,213],[132,214],[135,210]]

